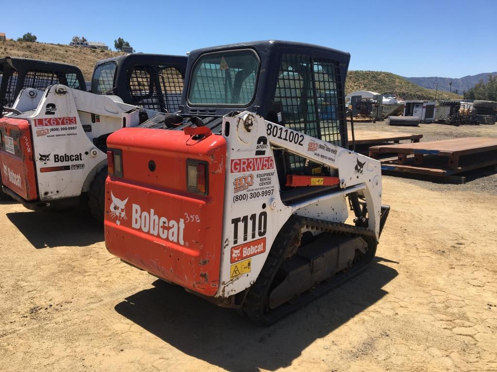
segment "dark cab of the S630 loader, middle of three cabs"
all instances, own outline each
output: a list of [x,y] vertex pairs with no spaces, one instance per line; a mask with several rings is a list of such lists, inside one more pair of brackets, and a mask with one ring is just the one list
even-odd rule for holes
[[97,62],[91,93],[114,95],[124,103],[160,112],[176,112],[181,100],[187,57],[132,53]]

